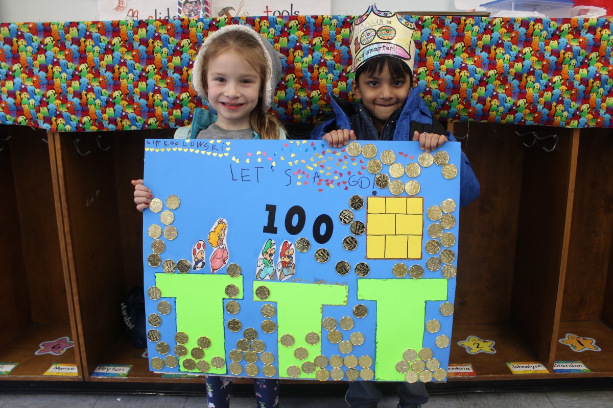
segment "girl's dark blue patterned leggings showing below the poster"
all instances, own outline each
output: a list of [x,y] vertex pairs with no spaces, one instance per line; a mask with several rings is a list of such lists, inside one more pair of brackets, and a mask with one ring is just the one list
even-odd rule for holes
[[[207,408],[229,408],[234,377],[207,376]],[[253,379],[257,408],[279,407],[279,380]]]

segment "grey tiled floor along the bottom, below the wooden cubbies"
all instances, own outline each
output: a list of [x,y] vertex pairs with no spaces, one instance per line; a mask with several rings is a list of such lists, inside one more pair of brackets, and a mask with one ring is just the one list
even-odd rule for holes
[[[342,396],[286,397],[283,407],[344,408]],[[397,399],[386,397],[379,408],[395,408]],[[0,408],[205,408],[204,396],[99,395],[99,394],[0,394]],[[232,398],[232,408],[254,408],[255,399]],[[456,393],[432,395],[424,408],[613,408],[613,390]]]

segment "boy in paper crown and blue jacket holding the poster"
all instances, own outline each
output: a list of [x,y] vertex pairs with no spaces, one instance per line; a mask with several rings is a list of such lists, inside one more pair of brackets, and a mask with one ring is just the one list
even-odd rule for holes
[[[332,147],[349,140],[419,141],[430,152],[455,141],[440,122],[433,120],[424,100],[413,90],[415,44],[414,26],[392,12],[375,6],[354,21],[351,54],[355,72],[351,85],[360,104],[332,99],[336,119],[324,122],[311,132],[312,138],[327,140]],[[479,182],[462,152],[460,207],[479,196]],[[398,408],[421,407],[428,401],[423,382],[397,382]],[[372,381],[349,382],[345,401],[352,408],[376,408],[383,393]]]

